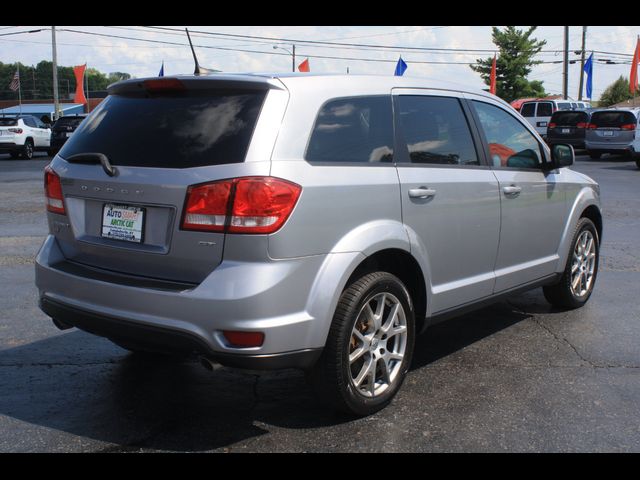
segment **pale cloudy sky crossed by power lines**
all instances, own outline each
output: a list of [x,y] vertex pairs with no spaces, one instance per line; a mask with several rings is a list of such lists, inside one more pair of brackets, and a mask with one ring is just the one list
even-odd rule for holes
[[[56,27],[58,63],[71,66],[86,62],[106,73],[121,71],[145,77],[157,75],[164,61],[166,75],[192,73],[193,61],[184,27],[59,26]],[[409,65],[405,75],[452,80],[483,88],[480,77],[468,64],[477,58],[492,56],[491,51],[495,49],[489,26],[187,27],[192,32],[200,64],[227,72],[290,71],[289,52],[295,43],[296,63],[309,57],[312,72],[346,73],[349,69],[350,73],[392,75],[395,62],[402,55]],[[40,28],[49,27],[0,26],[0,61],[31,65],[43,59],[50,60],[50,30],[8,35]],[[639,34],[638,26],[588,27],[587,50],[596,52],[594,99],[620,75],[629,76],[631,56]],[[538,57],[546,63],[535,67],[529,78],[543,80],[549,93],[562,93],[562,53],[559,51],[563,48],[563,27],[541,26],[534,35],[547,41]],[[579,60],[579,55],[573,51],[580,49],[581,36],[581,26],[570,27],[571,60]],[[318,45],[303,41],[351,45]],[[450,50],[414,50],[416,47]],[[607,64],[607,60],[624,63]],[[570,65],[569,95],[574,98],[578,96],[579,75],[579,62]]]

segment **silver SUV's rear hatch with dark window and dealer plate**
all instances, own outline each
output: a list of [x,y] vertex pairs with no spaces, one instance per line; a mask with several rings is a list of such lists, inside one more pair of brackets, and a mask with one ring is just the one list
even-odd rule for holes
[[50,225],[66,259],[201,282],[222,260],[224,234],[181,228],[187,189],[247,174],[245,156],[267,89],[191,77],[110,87],[52,163],[69,227],[55,215]]

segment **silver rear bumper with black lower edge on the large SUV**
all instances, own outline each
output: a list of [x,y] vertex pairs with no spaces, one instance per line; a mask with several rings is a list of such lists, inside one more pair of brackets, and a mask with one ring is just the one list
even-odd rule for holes
[[[186,349],[227,365],[306,368],[331,322],[307,311],[325,257],[223,262],[201,284],[181,288],[65,268],[68,262],[49,235],[36,257],[36,286],[47,315],[90,333]],[[224,330],[259,331],[265,340],[260,347],[234,348]]]

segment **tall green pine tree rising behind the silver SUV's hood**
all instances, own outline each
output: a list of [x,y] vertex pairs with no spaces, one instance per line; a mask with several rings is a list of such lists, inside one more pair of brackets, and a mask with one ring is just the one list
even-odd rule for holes
[[[531,35],[537,27],[529,27],[526,31],[513,26],[500,30],[492,27],[492,40],[498,47],[496,61],[496,95],[511,102],[523,97],[545,97],[543,82],[527,80],[534,65],[541,63],[534,60],[547,42],[537,40]],[[482,80],[489,85],[493,57],[479,58],[474,65],[470,65],[474,72],[478,72]]]

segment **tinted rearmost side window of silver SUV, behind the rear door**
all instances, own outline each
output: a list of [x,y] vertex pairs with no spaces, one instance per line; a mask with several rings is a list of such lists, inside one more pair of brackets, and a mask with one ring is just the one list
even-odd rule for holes
[[341,98],[326,103],[309,139],[310,162],[393,162],[391,98]]

